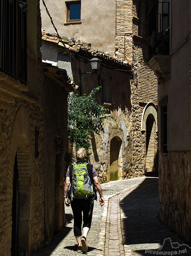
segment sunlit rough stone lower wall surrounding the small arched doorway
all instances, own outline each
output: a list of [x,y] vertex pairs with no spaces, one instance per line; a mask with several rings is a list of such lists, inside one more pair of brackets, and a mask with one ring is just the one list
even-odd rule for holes
[[[135,79],[136,81],[136,79]],[[118,83],[118,93],[121,89]],[[121,84],[122,81],[121,81]],[[146,132],[141,132],[141,118],[144,106],[139,106],[137,86],[134,80],[129,84],[131,93],[128,95],[130,108],[118,107],[110,114],[116,121],[108,119],[104,124],[104,134],[92,137],[91,163],[95,166],[100,182],[110,181],[111,140],[121,140],[118,156],[118,178],[133,178],[146,172]],[[113,94],[115,99],[117,95]],[[95,141],[95,142],[94,142]],[[95,148],[96,145],[96,148]],[[97,160],[96,160],[97,159]]]

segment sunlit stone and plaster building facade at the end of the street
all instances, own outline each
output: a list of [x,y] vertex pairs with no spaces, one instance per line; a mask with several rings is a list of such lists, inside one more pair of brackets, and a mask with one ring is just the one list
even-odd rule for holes
[[[96,86],[105,86],[105,84],[108,86],[109,102],[105,103],[109,103],[106,106],[109,106],[110,114],[117,121],[108,120],[105,122],[105,133],[101,137],[93,136],[94,154],[91,155],[91,163],[97,168],[100,180],[103,182],[113,179],[111,172],[114,170],[117,171],[115,178],[131,178],[158,170],[157,77],[147,66],[146,13],[151,9],[153,1],[112,0],[108,7],[110,12],[105,6],[106,2],[92,2],[91,8],[95,10],[92,15],[89,8],[85,8],[89,6],[89,1],[86,0],[83,2],[66,0],[62,3],[58,1],[59,8],[55,8],[52,1],[47,1],[47,8],[62,36],[63,45],[53,30],[42,2],[40,5],[42,29],[45,30],[42,37],[44,61],[65,67],[74,83],[86,94]],[[79,13],[81,16],[78,20],[72,20],[74,18],[70,17],[71,11],[68,12],[71,5],[75,4],[81,6]],[[95,26],[95,19],[103,22],[97,22],[98,25]],[[60,48],[64,47],[68,50],[61,50],[65,51],[65,54],[61,54],[59,47],[55,48],[53,43],[58,43]],[[50,57],[48,51],[54,54]],[[94,53],[100,59],[106,56],[110,59],[110,63],[102,62],[101,71],[97,75],[81,80],[83,77],[79,77],[79,68],[81,72],[87,72],[89,71],[87,64],[80,62],[79,59],[73,61],[75,58],[71,58],[71,53],[68,54],[68,51],[71,53],[73,51],[72,55],[78,55],[83,61],[91,59]],[[87,52],[91,54],[87,55]],[[113,63],[118,61],[123,63],[114,68]],[[68,63],[70,65],[67,68]],[[124,63],[131,65],[132,76],[123,71],[111,72],[110,67],[123,70]],[[98,101],[100,99],[99,103],[104,103],[101,94],[103,89],[98,92],[97,97]]]

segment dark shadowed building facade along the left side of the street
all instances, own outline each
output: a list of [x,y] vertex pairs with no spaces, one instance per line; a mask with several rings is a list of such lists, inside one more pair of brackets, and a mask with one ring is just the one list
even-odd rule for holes
[[[63,205],[60,197],[54,198],[61,175],[55,159],[60,157],[59,165],[63,165],[57,147],[60,154],[65,153],[64,142],[60,143],[66,140],[67,144],[67,105],[63,98],[72,88],[66,72],[62,71],[61,81],[57,71],[49,70],[49,76],[52,74],[48,78],[46,68],[42,73],[39,1],[31,0],[28,12],[17,1],[1,1],[0,7],[0,255],[26,252],[30,256],[45,237],[51,238],[63,225]],[[14,23],[16,17],[18,23]],[[60,116],[47,113],[47,106],[53,103],[59,111],[62,106]],[[62,131],[60,118],[65,124]],[[45,154],[54,164],[47,165]],[[56,214],[55,204],[62,205]]]

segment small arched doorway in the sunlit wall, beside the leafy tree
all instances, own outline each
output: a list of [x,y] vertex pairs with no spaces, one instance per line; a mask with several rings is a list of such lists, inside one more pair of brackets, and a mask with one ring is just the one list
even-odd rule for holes
[[121,144],[122,140],[119,137],[113,137],[110,141],[110,180],[119,179]]

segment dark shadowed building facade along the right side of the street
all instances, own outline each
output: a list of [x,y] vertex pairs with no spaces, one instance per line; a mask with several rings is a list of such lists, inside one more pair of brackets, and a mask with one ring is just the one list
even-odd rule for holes
[[162,34],[168,32],[169,40],[162,45],[168,48],[149,60],[159,79],[159,210],[161,220],[190,243],[191,1],[167,2],[170,20]]

